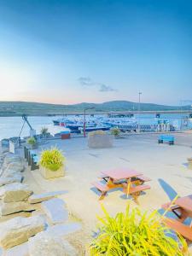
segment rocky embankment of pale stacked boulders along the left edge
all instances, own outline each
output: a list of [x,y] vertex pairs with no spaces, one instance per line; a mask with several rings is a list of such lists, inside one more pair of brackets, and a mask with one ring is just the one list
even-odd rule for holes
[[0,155],[0,255],[79,255],[67,235],[81,229],[68,221],[63,191],[33,194],[23,182],[25,160],[3,150]]

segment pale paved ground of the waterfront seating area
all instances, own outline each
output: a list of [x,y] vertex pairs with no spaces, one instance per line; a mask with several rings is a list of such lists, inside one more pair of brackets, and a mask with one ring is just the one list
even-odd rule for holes
[[[176,144],[158,144],[157,135],[131,135],[114,140],[113,148],[89,149],[83,137],[70,140],[55,140],[38,148],[57,146],[63,150],[66,161],[66,176],[44,180],[39,171],[26,172],[25,183],[35,192],[66,189],[63,199],[70,212],[80,218],[88,236],[95,229],[96,214],[101,214],[96,189],[91,182],[97,180],[102,170],[114,167],[130,167],[151,177],[151,189],[139,198],[144,210],[159,209],[175,195],[192,194],[192,170],[186,166],[187,157],[192,157],[192,134],[177,134]],[[123,211],[128,202],[122,191],[108,193],[103,205],[112,214]]]

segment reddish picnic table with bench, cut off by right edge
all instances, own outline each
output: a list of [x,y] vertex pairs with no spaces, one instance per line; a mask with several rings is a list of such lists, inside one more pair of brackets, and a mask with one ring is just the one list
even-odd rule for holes
[[172,218],[164,219],[164,223],[182,235],[188,243],[192,242],[192,223],[190,225],[183,224],[186,218],[192,218],[192,195],[179,197],[172,205],[172,202],[162,206],[164,209],[172,211],[177,220]]

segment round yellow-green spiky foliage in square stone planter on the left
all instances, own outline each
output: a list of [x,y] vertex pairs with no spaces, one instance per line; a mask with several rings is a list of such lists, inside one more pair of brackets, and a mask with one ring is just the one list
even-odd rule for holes
[[50,148],[41,153],[39,164],[50,171],[57,171],[64,165],[65,157],[58,148]]

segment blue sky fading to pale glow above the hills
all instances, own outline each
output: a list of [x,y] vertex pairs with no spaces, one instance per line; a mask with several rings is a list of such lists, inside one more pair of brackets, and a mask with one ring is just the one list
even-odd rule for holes
[[192,1],[0,0],[0,101],[192,100]]

